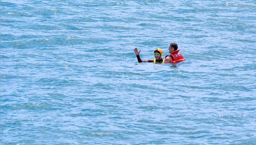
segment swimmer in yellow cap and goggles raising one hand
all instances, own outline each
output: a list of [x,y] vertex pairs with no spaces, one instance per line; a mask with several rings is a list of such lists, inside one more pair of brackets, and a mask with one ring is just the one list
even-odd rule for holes
[[140,59],[140,51],[138,51],[137,48],[134,48],[134,52],[135,52],[135,54],[137,56],[138,62],[154,62],[154,64],[163,64],[164,63],[164,59],[162,58],[163,50],[160,49],[160,48],[157,48],[157,49],[154,50],[155,58],[151,59],[151,60],[147,60],[147,61],[142,61]]

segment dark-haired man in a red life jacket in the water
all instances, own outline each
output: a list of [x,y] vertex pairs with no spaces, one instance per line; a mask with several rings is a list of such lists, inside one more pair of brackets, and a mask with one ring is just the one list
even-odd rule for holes
[[178,49],[178,44],[175,43],[171,43],[169,46],[169,53],[171,53],[170,55],[166,55],[165,56],[165,64],[174,64],[174,63],[178,63],[181,61],[186,61],[185,58],[183,58],[182,54],[179,52],[180,50]]

